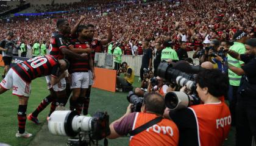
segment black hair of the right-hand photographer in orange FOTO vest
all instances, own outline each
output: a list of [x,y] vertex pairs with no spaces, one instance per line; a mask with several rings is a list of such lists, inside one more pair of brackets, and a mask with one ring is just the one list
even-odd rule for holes
[[196,77],[196,82],[201,88],[208,88],[208,92],[215,97],[226,95],[229,89],[229,77],[222,74],[219,69],[205,69],[199,72]]

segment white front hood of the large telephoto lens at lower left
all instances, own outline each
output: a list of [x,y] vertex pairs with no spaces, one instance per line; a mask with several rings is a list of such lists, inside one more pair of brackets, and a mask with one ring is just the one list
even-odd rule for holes
[[48,129],[50,133],[59,136],[66,136],[65,119],[68,118],[71,111],[54,111],[48,120]]

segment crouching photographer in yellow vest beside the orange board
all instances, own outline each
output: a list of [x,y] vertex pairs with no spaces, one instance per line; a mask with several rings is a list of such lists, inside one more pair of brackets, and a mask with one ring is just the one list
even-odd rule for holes
[[128,66],[126,62],[121,64],[121,68],[118,70],[119,73],[124,73],[124,78],[117,76],[116,77],[116,84],[118,88],[123,88],[124,86],[132,86],[134,82],[134,70]]

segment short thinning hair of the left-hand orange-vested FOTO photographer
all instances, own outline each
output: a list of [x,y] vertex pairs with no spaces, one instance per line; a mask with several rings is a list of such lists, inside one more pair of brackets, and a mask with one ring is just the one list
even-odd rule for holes
[[163,115],[165,111],[165,100],[158,92],[149,92],[144,96],[144,106],[146,111]]

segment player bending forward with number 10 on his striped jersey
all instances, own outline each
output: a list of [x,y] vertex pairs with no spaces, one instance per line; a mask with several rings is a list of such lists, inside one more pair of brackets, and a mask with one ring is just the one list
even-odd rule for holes
[[68,69],[68,60],[56,60],[51,55],[31,58],[23,63],[15,64],[0,83],[0,94],[12,88],[12,94],[19,97],[18,132],[16,137],[30,137],[25,131],[27,102],[31,88],[30,83],[37,77],[51,75],[51,85],[58,83]]

